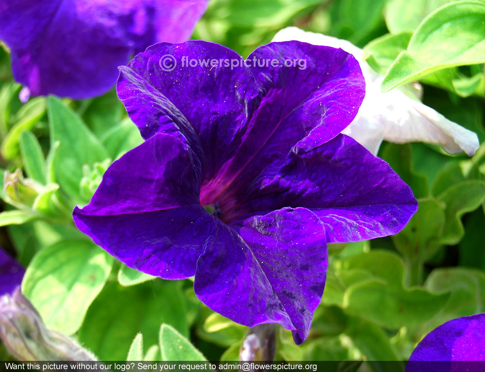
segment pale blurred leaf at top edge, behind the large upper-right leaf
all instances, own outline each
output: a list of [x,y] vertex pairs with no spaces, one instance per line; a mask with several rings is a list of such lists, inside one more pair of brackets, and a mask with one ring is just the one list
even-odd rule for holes
[[390,0],[384,8],[386,25],[392,33],[413,32],[421,21],[440,6],[451,0]]

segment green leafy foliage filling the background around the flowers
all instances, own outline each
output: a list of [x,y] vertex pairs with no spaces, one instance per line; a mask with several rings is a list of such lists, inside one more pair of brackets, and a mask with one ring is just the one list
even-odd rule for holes
[[[384,90],[419,80],[424,103],[483,142],[485,26],[476,19],[483,0],[212,0],[194,38],[243,56],[290,25],[345,38],[365,47]],[[0,84],[0,167],[23,175],[3,187],[0,245],[27,267],[22,291],[49,328],[104,360],[237,360],[246,327],[205,307],[191,280],[129,269],[72,222],[111,162],[142,142],[114,90],[21,104],[6,49]],[[379,156],[419,210],[393,237],[330,245],[310,335],[296,346],[279,329],[277,360],[407,360],[437,325],[485,311],[485,144],[472,158],[421,143],[384,143]]]

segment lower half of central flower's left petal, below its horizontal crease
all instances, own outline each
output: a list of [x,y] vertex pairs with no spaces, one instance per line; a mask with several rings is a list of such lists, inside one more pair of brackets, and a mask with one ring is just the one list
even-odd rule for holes
[[76,226],[110,255],[163,279],[194,276],[196,261],[217,230],[215,217],[198,204],[113,215],[76,209],[73,216]]

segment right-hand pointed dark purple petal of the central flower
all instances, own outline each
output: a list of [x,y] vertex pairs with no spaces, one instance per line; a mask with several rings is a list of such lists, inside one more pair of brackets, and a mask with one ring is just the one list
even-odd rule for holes
[[232,197],[238,203],[225,202],[235,205],[229,220],[231,213],[308,208],[325,225],[329,243],[395,234],[417,209],[411,189],[389,165],[343,134],[309,152],[292,152],[284,166],[268,168]]

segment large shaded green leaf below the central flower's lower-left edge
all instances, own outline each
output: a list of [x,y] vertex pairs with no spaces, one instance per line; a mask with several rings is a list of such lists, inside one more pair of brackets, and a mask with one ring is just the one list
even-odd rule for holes
[[78,336],[100,360],[124,360],[137,333],[159,343],[161,323],[189,335],[180,281],[151,281],[136,287],[109,283],[91,304]]

